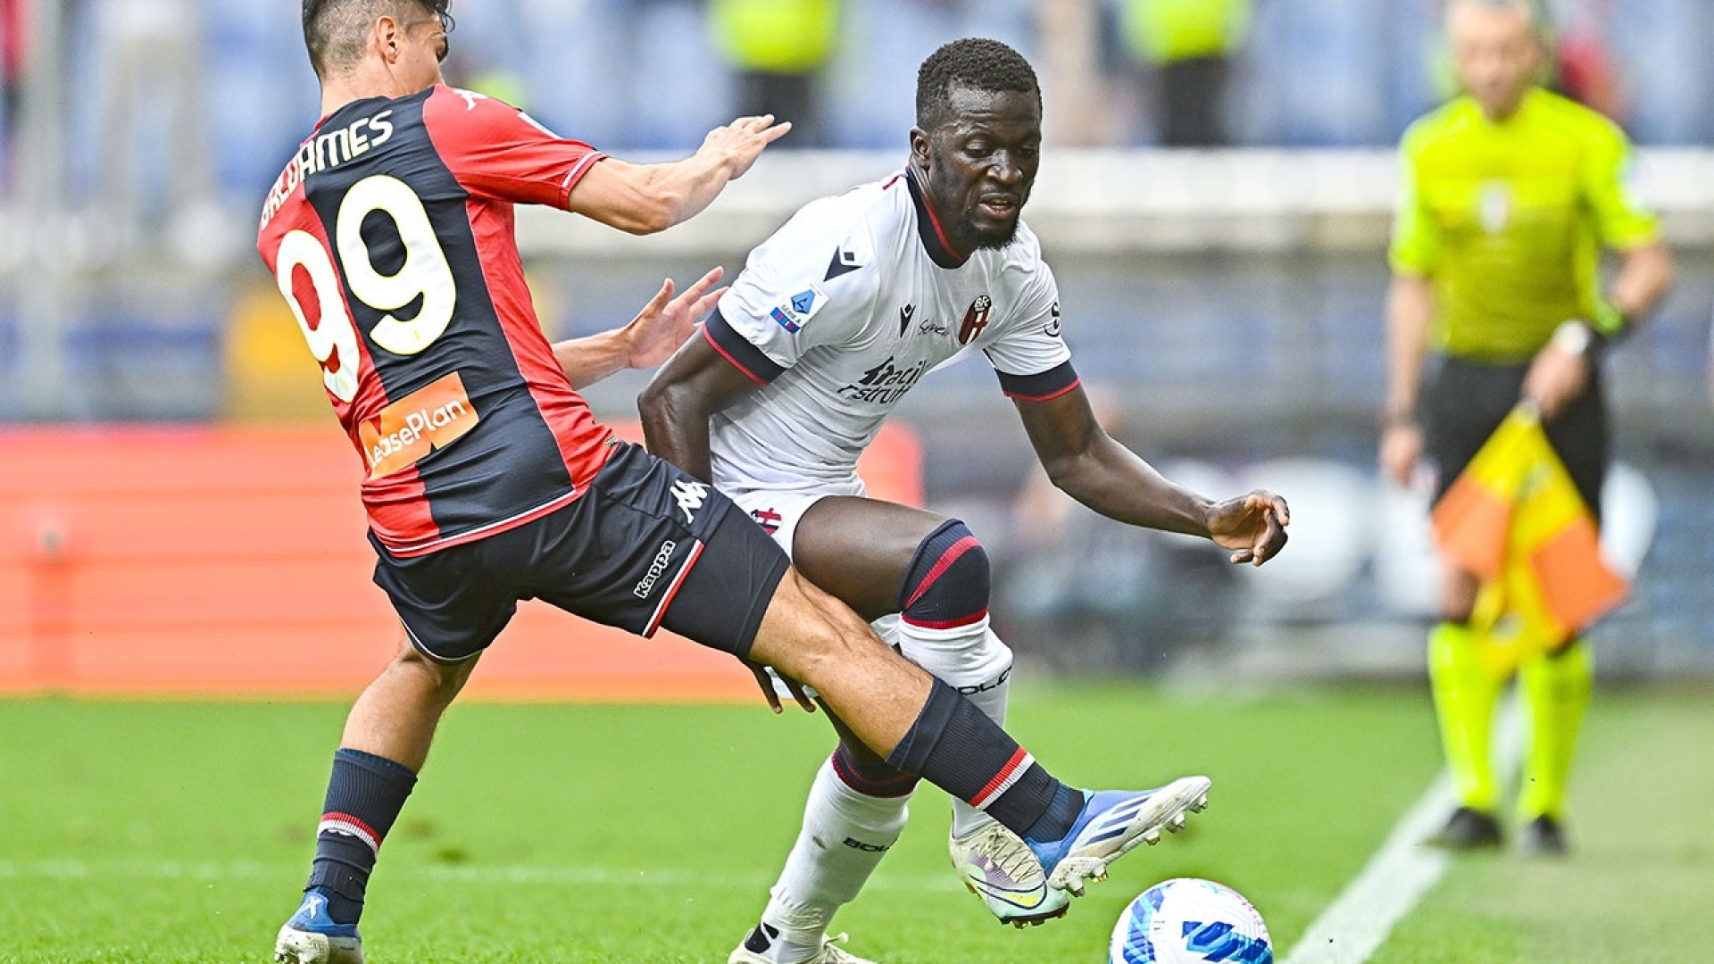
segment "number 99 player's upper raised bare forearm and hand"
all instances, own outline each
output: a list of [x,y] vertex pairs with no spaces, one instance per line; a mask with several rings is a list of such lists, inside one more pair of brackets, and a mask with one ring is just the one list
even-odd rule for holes
[[740,117],[716,127],[682,161],[631,165],[607,158],[571,189],[567,208],[632,235],[651,235],[694,218],[756,163],[790,124],[773,115]]

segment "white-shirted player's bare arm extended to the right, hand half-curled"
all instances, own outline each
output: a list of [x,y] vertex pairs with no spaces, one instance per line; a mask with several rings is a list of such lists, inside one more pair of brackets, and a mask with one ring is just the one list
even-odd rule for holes
[[1073,499],[1130,525],[1184,532],[1232,549],[1232,563],[1262,564],[1286,545],[1286,501],[1251,492],[1224,503],[1166,479],[1095,420],[1082,388],[1046,401],[1016,400],[1047,477]]

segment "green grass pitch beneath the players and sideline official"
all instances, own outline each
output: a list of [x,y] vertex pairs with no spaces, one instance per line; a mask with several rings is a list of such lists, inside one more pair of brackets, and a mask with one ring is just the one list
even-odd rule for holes
[[[1596,696],[1568,861],[1465,858],[1373,957],[1714,959],[1714,700]],[[0,702],[0,961],[266,961],[314,849],[331,703]],[[1280,949],[1357,873],[1438,765],[1421,686],[1186,695],[1025,688],[1013,731],[1085,786],[1214,777],[1190,828],[1042,928],[987,918],[912,823],[833,930],[886,964],[1090,962],[1124,902],[1224,880]],[[377,964],[723,962],[754,923],[831,738],[759,707],[459,705],[387,839]]]

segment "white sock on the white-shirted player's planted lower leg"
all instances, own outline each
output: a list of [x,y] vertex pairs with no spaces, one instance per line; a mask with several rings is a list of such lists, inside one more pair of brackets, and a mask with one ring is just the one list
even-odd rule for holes
[[821,763],[804,804],[804,828],[761,916],[763,923],[780,928],[770,959],[807,961],[821,950],[835,911],[857,897],[898,842],[908,803],[908,794],[860,794],[833,772],[833,760]]

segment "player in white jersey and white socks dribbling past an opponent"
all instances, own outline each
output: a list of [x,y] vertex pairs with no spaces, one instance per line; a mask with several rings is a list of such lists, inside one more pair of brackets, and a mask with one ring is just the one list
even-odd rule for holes
[[[986,355],[1052,480],[1102,515],[1205,535],[1255,564],[1286,544],[1287,523],[1277,496],[1203,499],[1095,422],[1061,340],[1052,271],[1018,216],[1040,120],[1035,74],[1010,46],[934,51],[917,77],[907,168],[802,208],[639,400],[655,455],[728,492],[811,581],[883,621],[908,659],[996,720],[1011,650],[989,630],[982,544],[958,520],[864,497],[857,479],[859,453],[924,374]],[[898,839],[914,787],[847,734],[730,962],[859,962],[826,926]],[[1061,916],[1068,890],[1082,892],[962,801],[951,834],[953,863],[1003,921]]]

